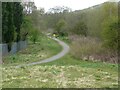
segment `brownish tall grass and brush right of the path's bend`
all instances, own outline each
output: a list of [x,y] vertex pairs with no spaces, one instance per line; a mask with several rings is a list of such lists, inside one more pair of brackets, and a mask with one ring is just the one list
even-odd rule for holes
[[92,37],[72,36],[71,54],[77,59],[117,63],[117,54],[106,49],[102,41]]

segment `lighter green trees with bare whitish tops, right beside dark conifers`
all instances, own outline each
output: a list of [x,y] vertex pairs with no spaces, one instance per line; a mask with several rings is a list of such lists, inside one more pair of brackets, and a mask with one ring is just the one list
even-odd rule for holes
[[[41,28],[41,15],[44,14],[44,9],[40,8],[37,10],[34,2],[29,2],[27,4],[23,3],[23,7],[25,9],[24,13],[26,16],[23,18],[22,30],[21,30],[21,38],[25,40],[27,35],[30,37],[31,41],[35,43],[38,39],[39,31]],[[27,7],[29,10],[27,10]]]

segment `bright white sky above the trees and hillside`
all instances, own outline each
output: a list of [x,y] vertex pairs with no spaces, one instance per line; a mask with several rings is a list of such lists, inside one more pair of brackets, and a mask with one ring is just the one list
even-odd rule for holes
[[34,0],[35,5],[42,7],[45,11],[55,6],[67,6],[74,10],[82,10],[109,0]]

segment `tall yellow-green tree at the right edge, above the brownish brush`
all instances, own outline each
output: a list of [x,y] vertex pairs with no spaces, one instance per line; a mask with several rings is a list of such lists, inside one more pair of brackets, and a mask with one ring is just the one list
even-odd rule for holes
[[107,2],[102,8],[102,39],[103,46],[116,51],[118,47],[118,3]]

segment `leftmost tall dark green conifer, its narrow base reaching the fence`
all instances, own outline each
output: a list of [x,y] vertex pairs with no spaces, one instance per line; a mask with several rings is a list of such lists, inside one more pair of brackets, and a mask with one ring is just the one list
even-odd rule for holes
[[[7,13],[7,16],[5,17],[7,20],[2,24],[3,28],[3,40],[5,43],[8,43],[8,51],[11,50],[11,43],[14,41],[15,37],[15,28],[14,28],[14,21],[13,21],[13,3],[12,2],[7,2],[5,4],[5,7],[3,6],[3,13]],[[4,14],[3,14],[4,15]]]

